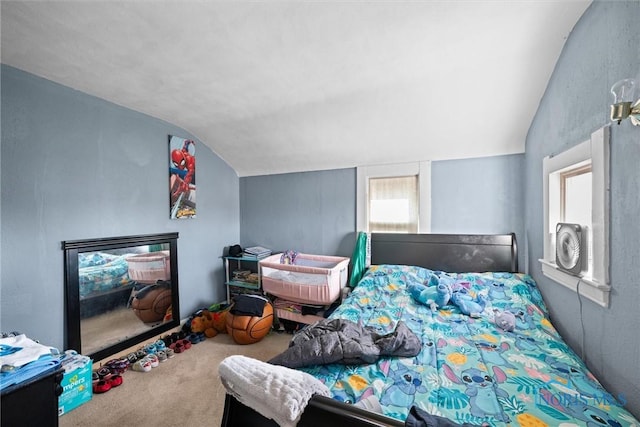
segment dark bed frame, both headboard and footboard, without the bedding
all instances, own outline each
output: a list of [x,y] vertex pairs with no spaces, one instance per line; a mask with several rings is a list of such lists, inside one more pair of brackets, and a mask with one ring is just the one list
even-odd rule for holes
[[[518,271],[515,234],[371,234],[371,264],[417,265],[451,273]],[[223,427],[278,427],[227,394]],[[404,422],[323,396],[311,398],[299,427],[401,427]]]

